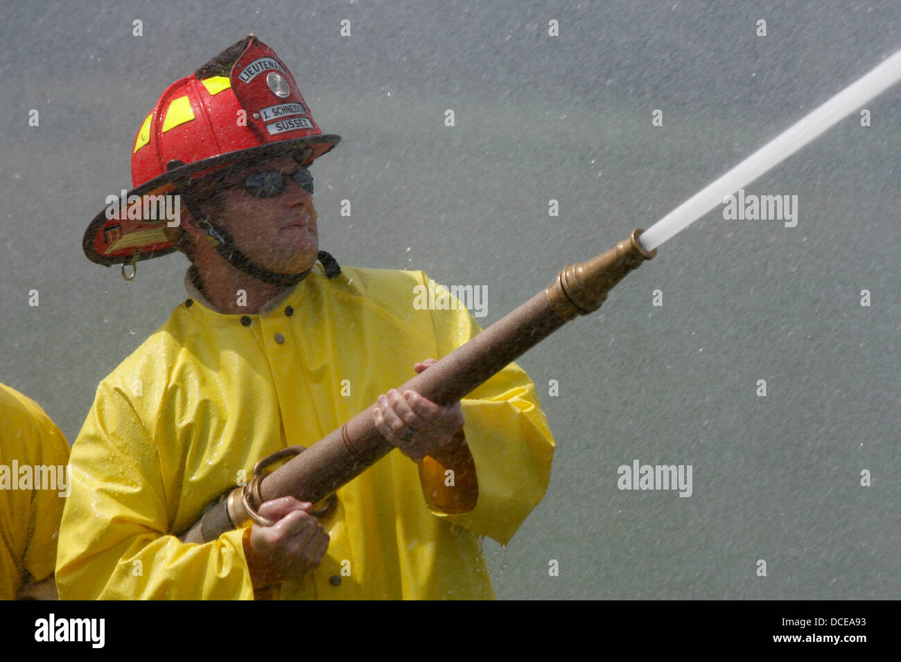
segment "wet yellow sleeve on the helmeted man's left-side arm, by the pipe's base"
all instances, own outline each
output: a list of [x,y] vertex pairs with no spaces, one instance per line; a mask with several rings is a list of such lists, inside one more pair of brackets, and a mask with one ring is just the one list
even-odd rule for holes
[[252,598],[242,539],[204,545],[168,535],[180,485],[160,471],[154,440],[128,396],[101,383],[69,462],[71,494],[57,552],[61,599]]

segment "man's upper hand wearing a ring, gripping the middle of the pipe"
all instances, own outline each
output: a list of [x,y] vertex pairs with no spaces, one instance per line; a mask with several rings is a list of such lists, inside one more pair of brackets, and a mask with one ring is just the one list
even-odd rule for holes
[[[413,369],[421,373],[437,362],[426,358]],[[452,443],[455,437],[459,443],[463,430],[460,403],[441,406],[414,391],[399,394],[391,389],[379,395],[372,418],[382,436],[414,462],[421,462],[427,455],[432,458],[446,455],[455,445]]]

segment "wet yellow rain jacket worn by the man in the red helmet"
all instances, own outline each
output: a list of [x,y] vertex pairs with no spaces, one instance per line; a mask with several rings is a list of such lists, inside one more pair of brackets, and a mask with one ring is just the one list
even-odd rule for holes
[[[252,598],[242,539],[185,531],[270,453],[310,446],[480,329],[416,310],[422,272],[317,264],[259,315],[188,299],[97,387],[72,450],[57,585],[66,598]],[[553,439],[515,364],[462,401],[478,503],[448,514],[443,467],[392,450],[338,490],[323,562],[281,598],[490,598],[479,536],[506,543],[541,501]],[[449,509],[450,510],[450,509]]]

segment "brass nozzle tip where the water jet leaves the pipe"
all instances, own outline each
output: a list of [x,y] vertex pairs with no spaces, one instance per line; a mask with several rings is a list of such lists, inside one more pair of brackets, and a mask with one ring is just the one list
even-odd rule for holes
[[554,313],[567,321],[594,313],[626,274],[641,267],[644,260],[656,257],[657,249],[645,250],[638,240],[642,232],[636,230],[629,239],[596,258],[576,262],[560,271],[545,290]]

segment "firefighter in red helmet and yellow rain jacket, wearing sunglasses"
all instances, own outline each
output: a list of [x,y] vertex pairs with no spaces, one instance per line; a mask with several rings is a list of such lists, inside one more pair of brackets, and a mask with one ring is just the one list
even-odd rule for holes
[[[340,140],[253,35],[142,123],[135,188],[83,246],[126,277],[180,249],[187,299],[97,387],[72,452],[62,598],[493,597],[479,536],[505,544],[542,499],[551,431],[515,364],[451,406],[392,389],[480,330],[460,306],[414,309],[423,272],[319,250],[310,166]],[[136,209],[159,195],[178,196],[180,218]],[[284,497],[259,507],[272,526],[177,538],[259,458],[377,400],[398,452],[329,508]]]

